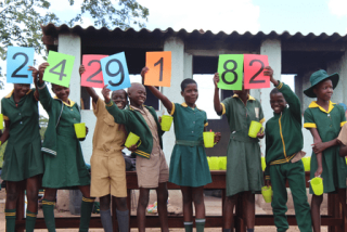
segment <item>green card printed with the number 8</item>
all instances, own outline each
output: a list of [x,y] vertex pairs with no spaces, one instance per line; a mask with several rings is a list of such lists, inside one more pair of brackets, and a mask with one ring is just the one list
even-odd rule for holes
[[223,54],[218,59],[218,88],[242,90],[243,54]]

